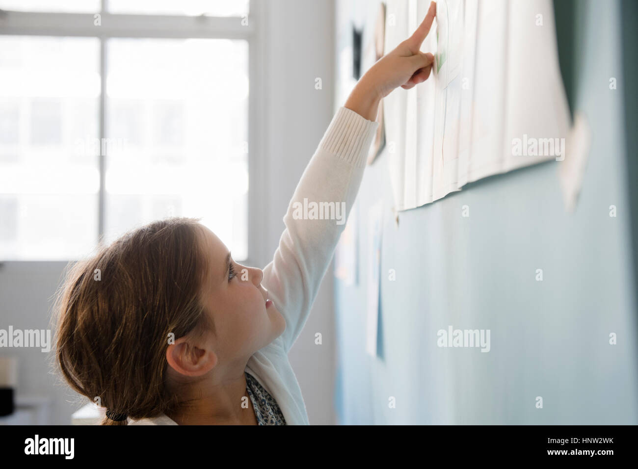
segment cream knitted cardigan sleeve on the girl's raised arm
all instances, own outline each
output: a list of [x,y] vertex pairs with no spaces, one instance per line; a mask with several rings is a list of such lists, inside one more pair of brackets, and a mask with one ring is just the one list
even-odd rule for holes
[[263,287],[286,320],[285,352],[306,324],[357,197],[378,122],[340,107],[301,176]]

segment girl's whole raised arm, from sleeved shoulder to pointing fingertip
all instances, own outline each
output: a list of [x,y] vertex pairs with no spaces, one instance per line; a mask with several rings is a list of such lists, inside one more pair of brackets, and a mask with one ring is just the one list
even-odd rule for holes
[[306,324],[357,197],[379,125],[375,119],[380,100],[398,86],[409,89],[429,76],[433,56],[419,49],[434,13],[432,3],[417,31],[360,78],[332,118],[288,204],[286,228],[262,280],[286,320],[281,336],[286,352]]

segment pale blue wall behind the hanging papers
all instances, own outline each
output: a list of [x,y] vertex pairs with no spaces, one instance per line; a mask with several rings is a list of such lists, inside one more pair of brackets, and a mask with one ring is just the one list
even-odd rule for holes
[[[625,175],[617,2],[577,2],[575,109],[591,153],[567,214],[551,161],[401,212],[387,154],[368,167],[359,283],[335,282],[342,424],[637,424],[636,306]],[[367,208],[385,200],[378,345],[365,353]],[[470,217],[461,217],[461,207]],[[618,207],[609,217],[609,205]],[[543,269],[544,281],[535,280]],[[396,281],[387,272],[396,269]],[[491,351],[439,348],[436,332],[490,329]],[[609,333],[618,345],[609,345]],[[396,408],[388,406],[389,396]],[[544,408],[535,408],[536,396]]]

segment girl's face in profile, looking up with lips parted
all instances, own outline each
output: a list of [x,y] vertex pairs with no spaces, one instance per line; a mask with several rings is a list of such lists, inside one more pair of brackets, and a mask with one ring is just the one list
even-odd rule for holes
[[278,338],[286,321],[272,299],[266,302],[262,269],[237,264],[223,242],[200,226],[202,248],[210,265],[202,293],[205,312],[215,324],[214,352],[222,362],[250,357]]

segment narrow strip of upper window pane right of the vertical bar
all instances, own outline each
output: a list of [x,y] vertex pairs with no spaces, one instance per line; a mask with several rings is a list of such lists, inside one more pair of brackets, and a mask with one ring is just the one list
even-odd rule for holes
[[144,15],[248,15],[248,0],[108,0],[110,13]]

